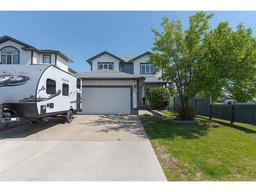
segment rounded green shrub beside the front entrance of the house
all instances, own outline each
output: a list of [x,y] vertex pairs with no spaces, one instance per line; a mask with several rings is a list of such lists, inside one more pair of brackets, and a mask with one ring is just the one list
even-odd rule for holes
[[152,88],[147,92],[147,99],[153,108],[165,109],[170,102],[170,92],[163,87]]

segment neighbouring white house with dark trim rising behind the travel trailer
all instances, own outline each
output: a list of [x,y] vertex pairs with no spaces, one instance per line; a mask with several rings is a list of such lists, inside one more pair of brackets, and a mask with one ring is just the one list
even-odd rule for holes
[[56,50],[40,50],[7,35],[0,37],[0,62],[10,65],[51,64],[68,72],[73,62]]

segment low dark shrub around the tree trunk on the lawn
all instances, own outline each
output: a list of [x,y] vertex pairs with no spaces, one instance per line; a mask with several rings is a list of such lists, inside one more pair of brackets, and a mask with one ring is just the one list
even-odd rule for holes
[[177,106],[177,119],[184,121],[195,120],[197,111],[193,106]]

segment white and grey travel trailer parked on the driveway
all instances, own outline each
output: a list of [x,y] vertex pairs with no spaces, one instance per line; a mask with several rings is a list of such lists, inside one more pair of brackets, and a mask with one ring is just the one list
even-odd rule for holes
[[81,79],[54,65],[0,65],[0,123],[81,111]]

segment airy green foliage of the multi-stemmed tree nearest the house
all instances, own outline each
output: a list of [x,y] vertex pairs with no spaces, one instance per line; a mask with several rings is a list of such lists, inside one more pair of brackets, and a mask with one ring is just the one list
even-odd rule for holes
[[202,62],[203,39],[212,16],[204,12],[190,16],[189,28],[185,31],[180,20],[169,22],[167,17],[163,17],[163,32],[152,29],[156,37],[149,62],[164,69],[162,79],[174,82],[184,106],[198,90],[195,73]]

